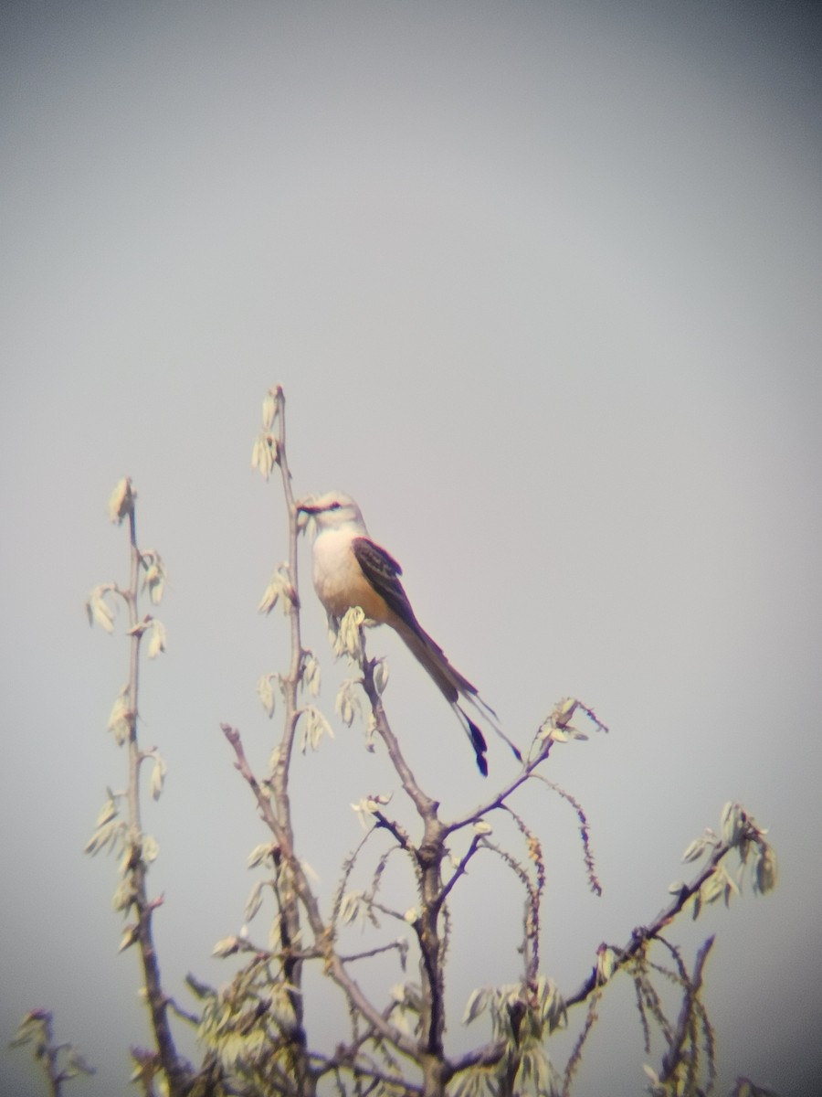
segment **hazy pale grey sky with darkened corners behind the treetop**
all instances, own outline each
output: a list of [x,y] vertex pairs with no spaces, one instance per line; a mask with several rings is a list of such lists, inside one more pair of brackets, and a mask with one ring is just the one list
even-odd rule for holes
[[[209,953],[266,834],[218,723],[266,758],[254,685],[286,635],[255,607],[286,546],[249,457],[281,382],[295,489],[357,498],[509,733],[569,693],[612,727],[550,769],[589,812],[602,900],[573,814],[523,801],[547,838],[546,971],[573,991],[739,799],[779,889],[671,937],[693,957],[718,934],[718,1092],[746,1073],[817,1093],[819,5],[27,2],[0,36],[0,1039],[54,1008],[99,1068],[70,1089],[94,1097],[128,1090],[147,1042],[116,862],[82,855],[125,780],[105,723],[126,647],[82,609],[126,579],[105,511],[124,474],[171,575],[141,697],[170,770],[145,818],[163,975],[190,1006],[186,971],[232,970]],[[442,699],[393,637],[370,651],[423,784],[467,810],[491,785]],[[491,781],[510,772],[494,744]],[[395,782],[358,728],[295,782],[328,894],[361,835],[349,804]],[[457,902],[452,1047],[481,1036],[458,1024],[470,988],[520,970],[521,898],[492,894]],[[635,1094],[631,995],[606,1000],[579,1092]],[[27,1051],[0,1078],[44,1092]]]

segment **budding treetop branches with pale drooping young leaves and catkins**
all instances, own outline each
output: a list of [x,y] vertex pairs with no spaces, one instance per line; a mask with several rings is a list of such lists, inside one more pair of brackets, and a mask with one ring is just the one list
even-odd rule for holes
[[[587,880],[591,890],[601,894],[585,811],[571,793],[548,780],[541,770],[555,743],[586,738],[583,731],[571,723],[574,713],[584,714],[598,731],[606,732],[607,727],[593,709],[575,698],[563,698],[534,735],[520,771],[496,793],[486,794],[486,801],[480,806],[445,822],[439,816],[439,802],[421,788],[391,728],[381,698],[385,683],[381,660],[369,659],[366,655],[364,609],[358,607],[353,607],[343,618],[342,642],[336,653],[345,652],[358,663],[362,679],[359,683],[351,679],[343,683],[338,695],[338,712],[346,724],[351,723],[355,713],[362,713],[364,704],[357,691],[357,686],[362,685],[370,705],[368,734],[376,733],[385,745],[388,760],[408,798],[408,804],[403,800],[401,806],[408,808],[411,805],[415,815],[412,824],[400,822],[404,818],[403,814],[388,807],[391,795],[396,794],[393,792],[391,795],[375,793],[355,805],[361,818],[373,825],[344,859],[341,880],[331,896],[330,911],[323,914],[313,875],[296,853],[298,844],[290,804],[290,767],[295,745],[299,747],[298,733],[305,745],[306,735],[313,740],[315,732],[320,726],[329,730],[330,724],[318,706],[299,703],[300,698],[305,701],[306,692],[317,697],[320,680],[317,658],[302,646],[300,623],[297,550],[299,533],[304,529],[301,511],[308,512],[310,508],[298,507],[292,489],[286,452],[285,396],[279,386],[270,389],[265,396],[263,429],[254,442],[252,463],[266,479],[275,466],[279,468],[288,538],[287,561],[276,566],[260,602],[260,610],[266,613],[277,603],[283,608],[290,638],[287,670],[263,675],[258,688],[267,715],[273,715],[276,703],[282,717],[269,770],[258,777],[246,755],[239,731],[228,723],[222,723],[220,727],[232,749],[233,766],[249,787],[260,818],[271,833],[271,838],[256,847],[249,859],[250,867],[262,868],[265,877],[255,880],[247,901],[246,916],[249,920],[253,918],[263,901],[266,907],[272,904],[274,912],[270,921],[269,947],[255,945],[244,930],[217,943],[215,954],[237,957],[240,963],[228,984],[215,989],[190,980],[191,988],[202,999],[201,1016],[182,1009],[163,992],[152,940],[151,918],[162,897],[149,900],[146,889],[148,866],[157,848],[153,839],[142,833],[139,776],[142,762],[151,758],[151,790],[159,795],[164,762],[153,748],[146,750],[138,745],[139,656],[144,636],[149,645],[149,657],[161,651],[164,631],[160,622],[150,615],[140,618],[138,592],[147,590],[152,602],[159,601],[165,573],[153,550],[140,552],[137,547],[136,495],[127,478],[117,485],[110,508],[116,521],[128,519],[129,586],[122,589],[114,584],[103,584],[94,588],[87,603],[90,621],[106,632],[112,631],[122,602],[125,602],[128,612],[128,681],[117,695],[110,717],[110,728],[116,742],[126,747],[128,783],[122,793],[109,793],[88,849],[89,852],[116,849],[123,858],[124,880],[115,894],[115,907],[128,916],[124,946],[136,943],[142,959],[146,998],[156,1044],[156,1050],[136,1050],[133,1053],[137,1064],[135,1081],[142,1092],[148,1097],[158,1084],[164,1086],[168,1079],[171,1097],[189,1097],[195,1090],[203,1097],[272,1097],[275,1093],[283,1097],[316,1097],[322,1081],[323,1092],[334,1088],[341,1097],[349,1097],[350,1094],[352,1097],[386,1097],[389,1094],[392,1097],[445,1097],[449,1082],[461,1075],[457,1079],[457,1090],[465,1095],[493,1092],[499,1097],[513,1097],[514,1094],[525,1097],[553,1092],[562,1086],[564,1097],[570,1092],[583,1047],[596,1022],[605,986],[620,969],[625,969],[633,981],[649,1045],[652,1028],[654,1031],[659,1028],[666,1041],[667,1050],[658,1079],[660,1085],[667,1082],[680,1086],[682,1083],[688,1093],[700,1092],[698,1086],[705,1075],[707,1056],[710,1087],[713,1077],[713,1032],[700,1000],[700,992],[712,938],[700,949],[693,975],[688,975],[678,950],[662,937],[662,932],[689,901],[694,902],[696,916],[701,903],[720,897],[727,902],[739,890],[737,881],[731,879],[724,866],[720,868],[720,862],[733,848],[742,862],[740,875],[750,871],[754,891],[768,891],[776,880],[776,862],[765,840],[765,832],[755,827],[739,804],[726,805],[720,828],[722,840],[712,832],[707,832],[686,851],[686,860],[694,861],[706,855],[709,858],[694,880],[687,885],[674,885],[678,890],[673,901],[649,926],[635,929],[624,948],[602,945],[597,950],[597,963],[589,977],[563,1002],[553,982],[540,971],[541,904],[546,891],[543,842],[538,832],[513,810],[512,798],[535,778],[571,805],[579,823]],[[140,581],[141,587],[138,586]],[[299,724],[300,719],[306,723]],[[307,733],[306,728],[309,728]],[[479,732],[477,736],[482,742]],[[401,796],[398,799],[401,800]],[[125,807],[121,805],[121,800],[125,801]],[[494,812],[504,812],[513,819],[518,830],[518,835],[513,832],[513,844],[507,839],[490,839],[488,816]],[[392,817],[395,814],[396,817]],[[449,838],[468,827],[473,827],[473,833],[468,832],[467,837],[460,837],[455,842],[455,855],[452,856]],[[390,837],[381,841],[375,837],[379,832]],[[509,827],[503,828],[503,833],[512,835]],[[457,860],[456,849],[466,845],[467,849]],[[490,1018],[491,1039],[450,1059],[445,1045],[445,1000],[452,900],[457,884],[468,875],[481,850],[501,858],[524,889],[523,931],[517,947],[522,961],[516,961],[517,968],[522,963],[522,969],[515,982],[478,987],[471,993],[466,1006],[466,1021],[472,1021],[484,1013],[486,1018]],[[745,858],[749,855],[746,868]],[[409,891],[413,897],[404,914],[401,913],[403,901],[395,902],[392,895],[387,895],[395,875],[388,869],[395,868],[398,857],[406,870],[411,869]],[[404,874],[409,877],[407,871]],[[510,878],[504,873],[502,875],[510,890]],[[362,884],[361,877],[365,881]],[[383,927],[390,925],[386,921],[388,918],[402,921],[403,931],[393,941],[375,943],[383,937]],[[342,935],[341,926],[355,920],[366,928],[374,927],[379,936],[365,939],[359,951],[343,953],[338,932]],[[347,935],[345,939],[349,940]],[[673,964],[665,957],[664,963],[652,962],[651,945],[654,941],[669,949]],[[654,957],[658,951],[653,950]],[[359,961],[386,958],[395,952],[403,976],[386,995],[387,1003],[379,1007],[363,992],[351,972],[363,970],[354,968]],[[409,954],[414,958],[419,975],[407,973]],[[308,1042],[305,1017],[310,1000],[307,1004],[306,994],[310,999],[315,984],[306,981],[304,973],[306,964],[311,962],[324,979],[339,987],[342,1004],[347,1009],[347,1039],[338,1043],[330,1054],[312,1049]],[[365,971],[372,974],[372,969],[379,966],[369,965]],[[396,971],[393,958],[385,966]],[[662,993],[661,979],[669,980],[681,996],[681,1009],[675,1021],[665,1015],[667,997]],[[586,1016],[573,1044],[564,1079],[560,1079],[548,1059],[545,1044],[549,1036],[567,1022],[567,1007],[582,1003],[587,1003]],[[169,1027],[170,1010],[197,1026],[199,1039],[206,1042],[207,1051],[196,1073],[178,1055]],[[50,1034],[47,1043],[50,1044]],[[62,1045],[55,1048],[55,1056],[61,1050]],[[650,1072],[650,1067],[648,1070]],[[414,1072],[419,1072],[421,1081],[408,1081],[407,1072],[412,1078],[415,1077]],[[53,1093],[59,1093],[60,1083],[67,1076],[55,1066],[49,1075]],[[652,1076],[655,1078],[655,1075]]]

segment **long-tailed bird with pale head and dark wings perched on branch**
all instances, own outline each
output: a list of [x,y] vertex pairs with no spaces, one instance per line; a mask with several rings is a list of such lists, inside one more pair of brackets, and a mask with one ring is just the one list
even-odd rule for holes
[[520,751],[498,727],[496,713],[448,663],[442,647],[416,620],[400,583],[402,568],[368,536],[354,500],[341,491],[329,491],[301,502],[299,509],[313,514],[319,527],[313,544],[313,586],[329,617],[339,621],[352,607],[359,606],[372,621],[390,625],[400,634],[456,713],[483,777],[488,774],[488,746],[482,732],[458,703],[460,698],[484,716],[522,761]]

